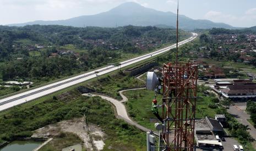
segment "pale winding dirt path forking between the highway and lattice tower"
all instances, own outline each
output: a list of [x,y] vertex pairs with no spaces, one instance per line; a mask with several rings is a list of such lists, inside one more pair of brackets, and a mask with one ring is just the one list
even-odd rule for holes
[[110,96],[105,96],[105,95],[101,95],[101,94],[92,94],[92,95],[83,94],[83,95],[84,96],[99,96],[99,97],[101,97],[104,100],[110,101],[116,107],[116,112],[117,112],[116,117],[118,119],[123,119],[128,124],[137,127],[141,131],[148,132],[148,131],[151,131],[151,130],[146,128],[146,127],[144,127],[144,126],[139,125],[138,123],[136,123],[135,121],[130,119],[130,117],[128,116],[127,111],[126,111],[126,107],[122,103],[122,102],[128,101],[128,98],[123,95],[124,91],[132,91],[132,90],[140,90],[140,89],[145,89],[145,88],[128,89],[128,90],[119,91],[119,94],[122,96],[122,101],[119,101],[119,100],[116,100],[115,98],[112,98]]

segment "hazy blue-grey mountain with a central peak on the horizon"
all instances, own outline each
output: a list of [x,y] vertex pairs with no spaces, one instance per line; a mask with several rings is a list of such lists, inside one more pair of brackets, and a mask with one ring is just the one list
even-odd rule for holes
[[[150,8],[145,8],[134,2],[127,2],[119,5],[104,13],[96,15],[85,15],[67,20],[56,21],[33,21],[23,24],[12,24],[9,26],[25,25],[64,25],[74,27],[97,26],[97,27],[116,27],[116,26],[155,26],[176,27],[176,14],[163,12]],[[179,16],[179,27],[184,30],[194,30],[195,28],[235,28],[224,23],[216,23],[209,20],[193,20],[187,16]]]

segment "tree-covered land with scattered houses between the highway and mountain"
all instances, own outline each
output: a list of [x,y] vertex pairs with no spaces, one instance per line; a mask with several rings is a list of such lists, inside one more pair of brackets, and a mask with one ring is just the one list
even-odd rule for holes
[[[181,39],[190,36],[188,32],[179,32]],[[173,42],[174,29],[151,26],[0,26],[0,81],[22,79],[37,86],[130,59]],[[0,95],[12,92],[8,88],[0,91]]]

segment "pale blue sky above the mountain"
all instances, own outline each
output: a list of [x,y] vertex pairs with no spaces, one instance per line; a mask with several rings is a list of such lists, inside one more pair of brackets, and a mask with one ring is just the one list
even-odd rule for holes
[[[177,0],[0,0],[0,25],[97,14],[127,1],[161,11],[176,12],[177,7]],[[256,26],[255,0],[180,0],[179,4],[180,13],[192,19]]]

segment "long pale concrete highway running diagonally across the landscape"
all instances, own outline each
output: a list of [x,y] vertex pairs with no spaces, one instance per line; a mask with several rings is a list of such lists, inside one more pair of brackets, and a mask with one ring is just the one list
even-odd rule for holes
[[[186,43],[194,40],[195,38],[197,38],[197,36],[198,36],[197,33],[192,33],[192,34],[193,34],[192,37],[190,37],[186,40],[183,40],[182,42],[179,42],[178,46],[186,44]],[[176,44],[173,44],[170,47],[166,47],[164,49],[160,49],[160,50],[154,51],[154,52],[146,54],[146,55],[142,55],[142,56],[130,59],[130,60],[119,62],[121,64],[120,66],[110,65],[107,67],[102,67],[100,69],[95,69],[94,71],[83,73],[83,74],[77,75],[72,78],[64,79],[64,80],[61,80],[56,83],[41,86],[40,88],[32,89],[32,90],[29,90],[26,92],[21,92],[20,94],[17,94],[17,95],[3,98],[2,100],[0,100],[0,112],[6,110],[8,108],[17,106],[19,104],[26,103],[26,102],[35,100],[36,98],[39,98],[39,97],[42,97],[42,96],[45,96],[48,94],[52,94],[53,92],[68,88],[69,86],[73,86],[75,84],[85,82],[86,80],[90,80],[99,75],[103,75],[106,73],[110,73],[112,71],[116,71],[120,67],[121,68],[126,67],[129,65],[132,65],[133,63],[137,63],[139,61],[149,59],[150,57],[154,57],[156,55],[166,53],[167,51],[169,51],[170,49],[173,49],[173,48],[176,48]]]

